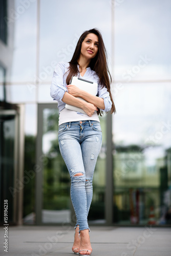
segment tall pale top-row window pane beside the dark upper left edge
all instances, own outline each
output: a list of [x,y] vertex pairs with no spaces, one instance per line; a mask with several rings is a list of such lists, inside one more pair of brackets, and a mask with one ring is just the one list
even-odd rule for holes
[[7,79],[32,82],[36,74],[36,1],[15,0],[9,8],[8,29],[11,31],[9,50],[13,52]]

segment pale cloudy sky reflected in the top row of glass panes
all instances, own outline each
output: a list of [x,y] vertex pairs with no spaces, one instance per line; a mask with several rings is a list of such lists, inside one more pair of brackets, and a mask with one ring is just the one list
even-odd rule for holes
[[[47,67],[51,81],[52,61],[69,61],[76,41],[87,29],[102,32],[111,59],[110,1],[40,1],[39,75]],[[15,0],[15,11],[21,6]],[[171,67],[171,2],[123,1],[114,8],[115,80],[138,65],[140,56],[151,61],[133,79],[168,79]],[[36,72],[36,2],[30,3],[15,19],[11,81],[34,81]]]

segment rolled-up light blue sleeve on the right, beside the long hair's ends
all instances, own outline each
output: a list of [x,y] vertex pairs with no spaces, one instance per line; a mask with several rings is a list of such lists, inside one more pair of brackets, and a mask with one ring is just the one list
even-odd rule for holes
[[102,111],[104,111],[104,112],[110,111],[112,108],[112,101],[111,101],[111,97],[110,97],[109,92],[106,87],[102,88],[101,85],[98,85],[98,97],[100,97],[104,100],[105,109]]

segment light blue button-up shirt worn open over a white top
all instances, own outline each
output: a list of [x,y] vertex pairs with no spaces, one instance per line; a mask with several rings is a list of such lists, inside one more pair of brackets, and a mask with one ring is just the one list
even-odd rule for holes
[[[63,95],[65,92],[67,92],[67,83],[66,83],[66,78],[68,73],[69,68],[69,63],[60,61],[57,66],[55,67],[54,73],[53,73],[53,78],[52,78],[52,84],[51,84],[51,97],[54,100],[58,101],[58,109],[59,112],[65,108],[66,103],[62,101]],[[80,77],[80,74],[78,73],[77,75]],[[101,86],[99,83],[99,77],[96,74],[95,71],[91,70],[90,67],[87,68],[86,73],[83,76],[83,79],[96,82],[98,84],[98,93],[97,96],[100,98],[104,99],[104,106],[105,109],[102,110],[104,112],[108,112],[111,110],[112,107],[112,101],[109,95],[109,92],[107,91],[106,87]]]

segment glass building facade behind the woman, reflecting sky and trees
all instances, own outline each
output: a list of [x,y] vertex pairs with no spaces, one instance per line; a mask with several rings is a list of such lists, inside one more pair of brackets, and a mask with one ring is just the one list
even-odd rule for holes
[[171,224],[171,2],[0,1],[0,218],[75,223],[70,177],[58,146],[54,68],[83,31],[98,28],[116,115],[100,117],[92,225]]

